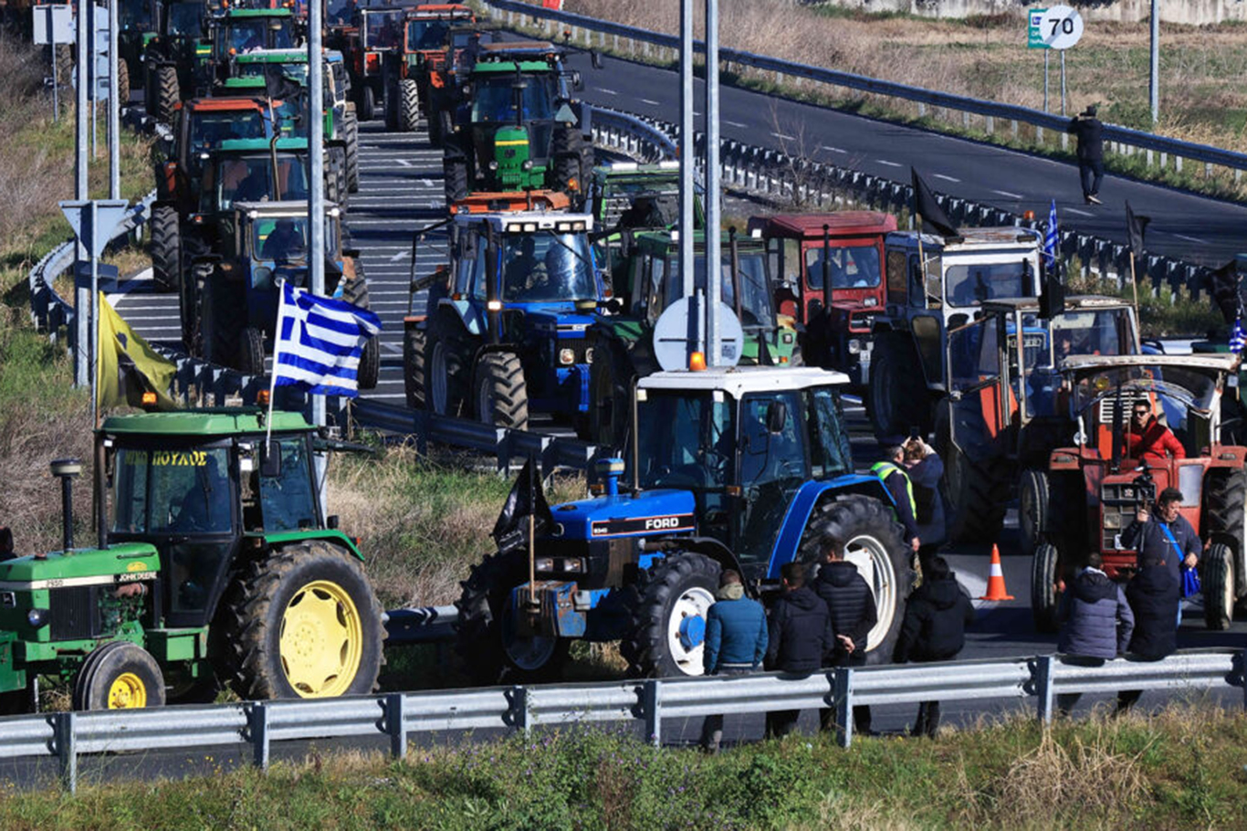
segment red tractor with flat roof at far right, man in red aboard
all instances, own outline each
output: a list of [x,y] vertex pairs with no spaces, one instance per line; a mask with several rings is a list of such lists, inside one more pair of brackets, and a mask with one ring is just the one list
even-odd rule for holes
[[[1235,604],[1247,596],[1247,448],[1222,444],[1243,418],[1237,396],[1227,394],[1238,363],[1235,354],[1085,354],[1061,362],[1077,423],[1074,445],[1054,449],[1046,470],[1028,472],[1026,487],[1042,497],[1031,578],[1036,628],[1055,629],[1060,594],[1089,552],[1100,552],[1110,578],[1135,571],[1139,553],[1124,547],[1122,534],[1165,488],[1182,492],[1181,513],[1205,543],[1205,623],[1208,629],[1231,624]],[[1173,432],[1185,459],[1129,458],[1136,402]]]

